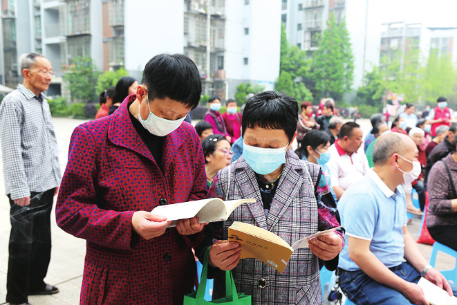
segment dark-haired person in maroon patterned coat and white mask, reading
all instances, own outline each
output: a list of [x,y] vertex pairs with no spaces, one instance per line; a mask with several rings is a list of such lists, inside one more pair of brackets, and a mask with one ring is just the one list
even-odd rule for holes
[[200,140],[183,122],[200,93],[189,57],[156,55],[136,94],[73,131],[55,212],[60,228],[87,240],[81,304],[183,304],[192,292],[204,224],[167,228],[151,210],[206,196]]

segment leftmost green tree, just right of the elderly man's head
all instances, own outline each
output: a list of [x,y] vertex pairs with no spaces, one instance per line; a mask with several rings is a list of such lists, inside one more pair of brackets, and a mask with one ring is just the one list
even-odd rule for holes
[[95,100],[95,86],[100,72],[93,63],[91,57],[75,57],[64,75],[68,89],[70,89],[71,100],[91,102]]

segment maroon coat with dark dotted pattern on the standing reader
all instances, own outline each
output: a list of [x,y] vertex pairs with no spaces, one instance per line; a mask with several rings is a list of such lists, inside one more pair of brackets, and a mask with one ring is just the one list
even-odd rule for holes
[[127,102],[135,98],[71,136],[56,218],[60,228],[87,240],[81,304],[183,304],[194,286],[191,246],[201,234],[188,238],[171,228],[146,241],[133,231],[131,218],[160,202],[205,198],[198,134],[183,122],[165,137],[162,174],[131,124]]

